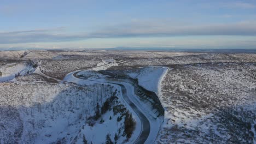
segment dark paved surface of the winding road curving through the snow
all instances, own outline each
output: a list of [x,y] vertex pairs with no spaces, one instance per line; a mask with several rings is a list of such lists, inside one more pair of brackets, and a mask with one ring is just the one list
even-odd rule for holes
[[[110,64],[110,63],[108,63]],[[108,64],[104,64],[104,65],[108,65]],[[102,67],[104,65],[98,66],[98,67]],[[94,67],[94,68],[98,68],[98,67]],[[94,69],[94,68],[89,68],[89,69]],[[89,70],[89,69],[84,69],[84,70]],[[75,73],[73,73],[73,76],[76,77],[77,79],[83,79],[82,77],[78,76],[78,73],[84,70],[79,70],[76,71]],[[87,80],[87,79],[84,79]],[[94,81],[94,80],[89,80],[89,81]],[[98,82],[98,81],[96,81]],[[126,103],[128,105],[130,105],[130,107],[132,108],[133,111],[135,111],[135,113],[137,114],[137,116],[139,117],[140,121],[141,121],[141,132],[139,133],[139,136],[137,137],[137,139],[135,140],[134,143],[145,143],[148,139],[149,133],[150,133],[150,123],[148,118],[143,114],[143,112],[141,110],[138,109],[138,107],[132,102],[132,100],[129,98],[129,95],[127,94],[127,88],[120,84],[120,82],[115,82],[114,80],[111,82],[104,82],[104,83],[112,83],[114,85],[118,85],[121,87],[121,91],[122,91],[122,95],[124,100],[126,101]]]

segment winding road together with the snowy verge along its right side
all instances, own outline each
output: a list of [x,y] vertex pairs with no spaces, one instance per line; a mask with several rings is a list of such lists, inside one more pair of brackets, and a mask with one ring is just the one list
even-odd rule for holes
[[[118,85],[121,87],[121,92],[123,95],[124,100],[126,103],[131,107],[131,109],[137,114],[139,120],[141,121],[141,131],[139,133],[139,136],[133,143],[154,143],[158,132],[160,130],[161,124],[163,122],[163,119],[159,119],[150,113],[151,111],[147,108],[143,108],[143,104],[141,104],[141,101],[137,98],[133,85],[130,85],[129,82],[120,81],[118,79],[116,80],[106,80],[106,81],[96,81],[96,80],[88,80],[83,77],[80,77],[78,75],[79,72],[85,71],[85,70],[97,70],[100,67],[106,68],[109,65],[115,64],[115,63],[123,63],[125,61],[115,61],[115,62],[108,62],[107,64],[103,64],[97,67],[83,69],[83,70],[77,70],[73,71],[72,73],[69,73],[66,78],[69,81],[71,77],[75,77],[77,79],[87,80],[87,81],[93,81],[93,82],[100,82],[100,83],[111,83],[112,85]],[[65,81],[65,80],[63,80]],[[75,82],[75,81],[74,81]],[[132,88],[133,87],[133,88]],[[130,91],[127,91],[127,89],[133,89]],[[133,97],[133,99],[131,99]]]

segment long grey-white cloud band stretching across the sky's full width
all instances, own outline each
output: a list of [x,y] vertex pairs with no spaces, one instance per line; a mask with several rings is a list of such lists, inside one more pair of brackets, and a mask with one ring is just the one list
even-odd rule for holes
[[171,37],[178,35],[256,35],[256,22],[188,25],[171,21],[141,21],[104,27],[91,33],[66,33],[65,28],[0,33],[0,44],[48,43],[90,38]]

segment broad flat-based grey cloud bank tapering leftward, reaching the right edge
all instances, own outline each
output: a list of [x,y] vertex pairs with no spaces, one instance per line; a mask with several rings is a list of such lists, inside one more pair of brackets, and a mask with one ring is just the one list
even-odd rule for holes
[[176,35],[256,35],[256,22],[215,25],[173,25],[172,22],[138,21],[91,33],[93,37],[138,37]]

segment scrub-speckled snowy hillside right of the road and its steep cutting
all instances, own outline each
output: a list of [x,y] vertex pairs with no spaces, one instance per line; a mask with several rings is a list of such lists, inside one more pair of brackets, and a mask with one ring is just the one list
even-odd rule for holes
[[161,84],[162,143],[255,143],[255,63],[172,65]]

